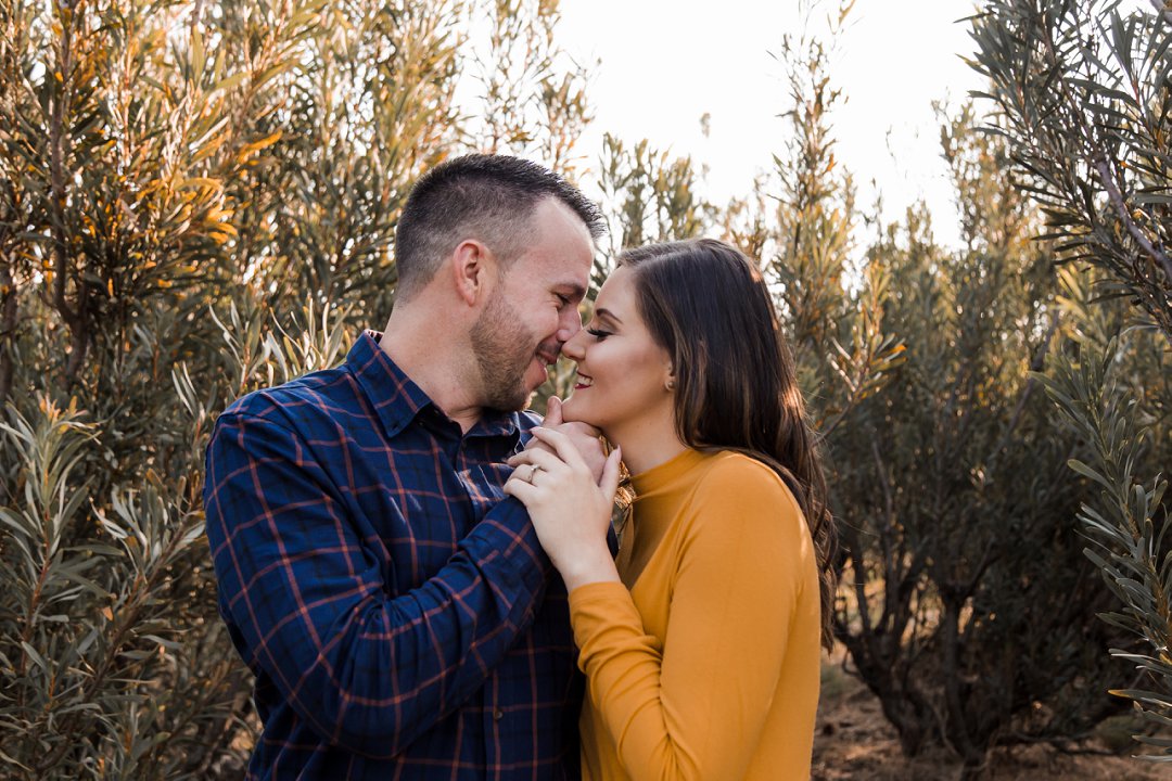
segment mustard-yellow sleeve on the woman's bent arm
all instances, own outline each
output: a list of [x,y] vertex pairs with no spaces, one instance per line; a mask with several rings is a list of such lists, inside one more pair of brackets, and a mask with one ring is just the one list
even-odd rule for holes
[[570,595],[590,697],[634,781],[744,777],[764,727],[809,544],[789,492],[755,466],[714,468],[676,520],[687,536],[662,643],[624,585]]

